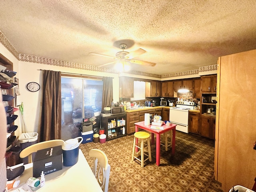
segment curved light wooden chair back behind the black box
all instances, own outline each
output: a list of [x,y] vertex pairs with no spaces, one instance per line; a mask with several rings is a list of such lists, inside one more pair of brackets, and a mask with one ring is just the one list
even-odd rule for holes
[[61,139],[55,139],[55,140],[36,143],[34,145],[28,146],[27,148],[24,148],[20,152],[20,158],[25,158],[28,156],[28,163],[32,163],[32,153],[37,152],[38,150],[41,150],[41,149],[46,149],[46,148],[55,147],[59,145],[63,146],[63,144],[64,144],[64,141]]

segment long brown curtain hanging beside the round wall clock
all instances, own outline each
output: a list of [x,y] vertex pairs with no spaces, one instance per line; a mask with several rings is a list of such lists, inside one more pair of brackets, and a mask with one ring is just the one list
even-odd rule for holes
[[61,72],[43,70],[40,142],[61,137]]

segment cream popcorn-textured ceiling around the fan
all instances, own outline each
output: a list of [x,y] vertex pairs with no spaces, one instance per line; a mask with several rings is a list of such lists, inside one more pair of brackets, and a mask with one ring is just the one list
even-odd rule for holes
[[255,0],[1,0],[0,30],[19,53],[95,66],[114,60],[90,52],[115,56],[124,41],[156,63],[132,70],[169,74],[256,49],[255,10]]

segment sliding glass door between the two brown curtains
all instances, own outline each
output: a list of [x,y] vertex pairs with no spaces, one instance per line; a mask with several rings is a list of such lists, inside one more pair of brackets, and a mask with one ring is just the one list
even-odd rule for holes
[[102,88],[102,80],[62,76],[62,140],[80,136],[85,118],[95,117],[94,130],[100,128]]

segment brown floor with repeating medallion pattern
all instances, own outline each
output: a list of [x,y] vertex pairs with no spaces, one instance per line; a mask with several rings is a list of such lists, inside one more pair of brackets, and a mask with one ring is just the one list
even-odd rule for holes
[[214,140],[176,131],[176,151],[161,146],[160,166],[156,166],[155,145],[152,162],[144,168],[132,159],[133,135],[106,143],[81,144],[89,165],[88,151],[98,148],[106,153],[110,169],[109,192],[222,192],[214,180]]

